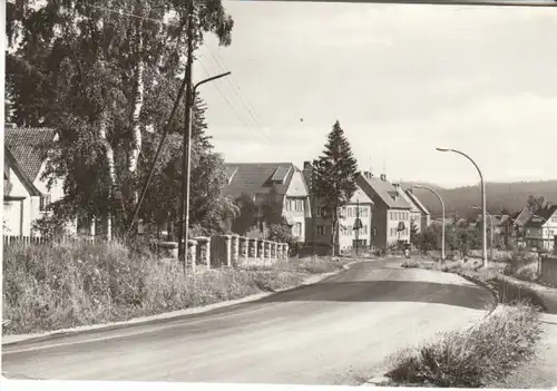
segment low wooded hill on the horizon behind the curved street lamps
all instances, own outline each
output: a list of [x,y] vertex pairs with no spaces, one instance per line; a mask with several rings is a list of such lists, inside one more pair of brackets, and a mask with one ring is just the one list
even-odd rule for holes
[[[479,185],[443,188],[420,182],[405,182],[401,184],[403,188],[412,185],[428,186],[438,192],[441,198],[443,198],[448,214],[456,212],[460,217],[476,216],[478,212],[470,209],[470,206],[481,205]],[[439,201],[431,192],[414,189],[414,193],[433,215],[441,214]],[[518,212],[526,205],[526,201],[530,195],[543,196],[546,202],[557,204],[557,180],[486,184],[487,209],[489,213],[500,213],[501,209],[507,209],[510,213]]]

